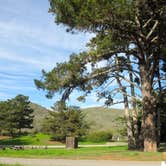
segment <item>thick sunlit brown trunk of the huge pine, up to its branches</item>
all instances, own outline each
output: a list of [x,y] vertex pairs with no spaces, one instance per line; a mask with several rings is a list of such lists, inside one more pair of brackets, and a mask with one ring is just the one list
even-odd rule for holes
[[153,79],[155,73],[155,63],[150,63],[149,59],[141,55],[139,59],[141,89],[142,89],[142,107],[143,107],[143,138],[144,151],[157,151],[157,100],[153,91]]

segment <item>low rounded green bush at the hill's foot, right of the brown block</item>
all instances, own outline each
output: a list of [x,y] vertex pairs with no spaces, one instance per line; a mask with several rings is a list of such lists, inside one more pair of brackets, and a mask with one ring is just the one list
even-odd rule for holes
[[112,133],[110,131],[98,131],[89,134],[86,137],[86,141],[89,142],[107,142],[112,139]]

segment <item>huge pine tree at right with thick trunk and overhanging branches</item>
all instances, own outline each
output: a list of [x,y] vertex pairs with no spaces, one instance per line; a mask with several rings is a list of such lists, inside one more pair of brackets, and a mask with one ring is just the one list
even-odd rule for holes
[[[165,61],[166,2],[50,0],[49,11],[57,24],[67,26],[67,31],[88,31],[96,36],[90,40],[86,53],[75,55],[74,61],[71,57],[68,63],[57,64],[52,71],[44,72],[44,79],[36,80],[36,85],[47,90],[49,95],[61,92],[63,101],[77,88],[86,95],[93,88],[102,87],[99,96],[105,97],[108,105],[114,103],[116,93],[123,94],[126,106],[127,98],[134,104],[135,98],[140,96],[144,150],[156,151],[155,91],[162,88],[162,80],[165,80],[165,72],[161,68]],[[97,67],[103,61],[106,65]],[[89,64],[92,66],[90,70]],[[109,87],[114,80],[119,88],[103,88]],[[134,90],[131,85],[139,90],[138,95],[127,90],[128,86]]]

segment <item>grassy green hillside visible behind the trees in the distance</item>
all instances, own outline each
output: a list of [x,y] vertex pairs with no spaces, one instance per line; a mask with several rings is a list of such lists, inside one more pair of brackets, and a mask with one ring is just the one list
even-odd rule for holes
[[[35,103],[31,103],[34,109],[34,131],[40,131],[44,118],[49,114],[49,110]],[[91,124],[91,131],[110,130],[114,133],[122,128],[122,124],[117,118],[124,115],[120,109],[109,109],[104,107],[92,107],[82,109],[87,121]]]

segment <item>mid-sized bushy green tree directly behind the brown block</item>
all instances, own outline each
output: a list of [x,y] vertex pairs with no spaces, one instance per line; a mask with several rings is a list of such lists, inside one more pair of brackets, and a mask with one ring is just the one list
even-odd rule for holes
[[64,142],[67,136],[80,138],[86,135],[89,125],[79,108],[61,109],[56,105],[53,109],[43,124],[43,130],[51,134],[54,140]]

